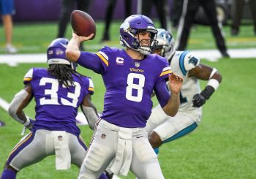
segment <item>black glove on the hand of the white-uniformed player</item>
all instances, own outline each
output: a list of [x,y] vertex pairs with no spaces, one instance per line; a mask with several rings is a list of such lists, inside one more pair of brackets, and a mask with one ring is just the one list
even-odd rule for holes
[[201,107],[206,103],[206,99],[209,99],[211,94],[214,93],[214,88],[211,85],[207,85],[206,88],[200,93],[193,96],[193,107]]

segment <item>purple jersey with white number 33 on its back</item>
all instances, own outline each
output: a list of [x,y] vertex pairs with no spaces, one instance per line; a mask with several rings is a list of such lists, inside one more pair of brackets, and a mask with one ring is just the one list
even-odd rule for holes
[[36,102],[36,122],[33,130],[66,131],[80,134],[75,117],[86,94],[94,93],[89,77],[72,75],[75,86],[67,88],[44,68],[33,68],[26,73],[23,83],[30,83]]

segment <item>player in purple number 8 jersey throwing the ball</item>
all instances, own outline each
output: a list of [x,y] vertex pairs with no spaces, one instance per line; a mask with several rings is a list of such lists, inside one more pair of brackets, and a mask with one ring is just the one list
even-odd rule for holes
[[110,171],[116,175],[127,175],[130,169],[138,178],[164,178],[145,126],[153,90],[163,111],[176,115],[182,78],[171,72],[165,58],[151,54],[157,45],[157,29],[144,15],[131,15],[121,24],[120,42],[125,49],[103,47],[97,53],[80,52],[80,42],[92,36],[73,33],[67,45],[67,57],[101,74],[106,87],[104,111],[79,178],[97,178],[111,161]]

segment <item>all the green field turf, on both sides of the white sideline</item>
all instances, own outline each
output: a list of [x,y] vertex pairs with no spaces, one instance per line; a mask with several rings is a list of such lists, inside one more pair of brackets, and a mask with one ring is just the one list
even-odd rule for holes
[[[108,45],[118,45],[118,26],[111,26],[111,39]],[[2,30],[2,27],[1,27]],[[86,45],[88,50],[97,50],[102,46],[102,23],[97,24],[97,38]],[[256,37],[252,26],[243,26],[238,37],[230,37],[226,26],[227,45],[229,48],[256,47]],[[71,29],[69,28],[71,34]],[[173,34],[176,32],[174,31]],[[44,53],[48,43],[56,37],[56,24],[34,24],[15,26],[14,44],[20,53]],[[70,36],[69,36],[70,37]],[[69,38],[68,37],[68,38]],[[2,39],[1,39],[2,40]],[[0,41],[0,47],[4,42]],[[197,26],[189,40],[191,49],[214,49],[215,43],[210,28]],[[0,51],[4,53],[4,51]],[[210,54],[209,54],[210,55]],[[1,57],[0,57],[1,58]],[[192,134],[162,145],[159,162],[165,178],[256,178],[256,59],[221,58],[217,62],[202,60],[202,63],[214,66],[221,72],[223,80],[216,93],[203,107],[203,120]],[[0,64],[0,98],[10,102],[13,95],[23,88],[23,75],[32,66],[46,64],[19,64],[11,67]],[[99,111],[102,111],[105,87],[99,75],[86,69],[79,69],[83,75],[92,77],[95,94],[92,97]],[[201,83],[204,86],[206,83]],[[34,102],[25,113],[34,117]],[[22,126],[14,121],[0,107],[0,120],[6,126],[0,128],[0,169],[3,168],[14,145],[20,140]],[[91,130],[80,126],[81,135],[89,143]],[[53,156],[20,171],[18,178],[77,178],[78,168],[56,171]],[[0,172],[1,173],[1,172]],[[135,178],[129,174],[127,178]]]

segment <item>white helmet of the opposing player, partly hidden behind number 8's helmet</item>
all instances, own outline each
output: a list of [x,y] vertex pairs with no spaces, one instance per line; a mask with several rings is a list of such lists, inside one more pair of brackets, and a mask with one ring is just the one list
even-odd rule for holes
[[175,53],[174,38],[172,34],[163,28],[157,28],[157,49],[161,49],[161,56],[170,60]]

